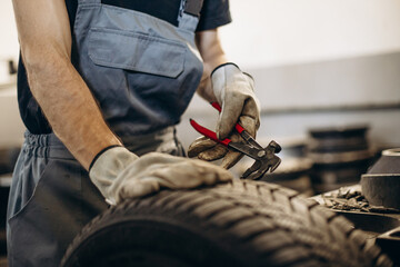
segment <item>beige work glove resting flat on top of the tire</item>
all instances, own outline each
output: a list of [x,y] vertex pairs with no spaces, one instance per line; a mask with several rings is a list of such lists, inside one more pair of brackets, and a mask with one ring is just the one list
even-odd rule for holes
[[161,188],[196,188],[232,179],[223,168],[198,159],[160,152],[138,157],[124,147],[102,152],[92,164],[89,177],[111,205]]

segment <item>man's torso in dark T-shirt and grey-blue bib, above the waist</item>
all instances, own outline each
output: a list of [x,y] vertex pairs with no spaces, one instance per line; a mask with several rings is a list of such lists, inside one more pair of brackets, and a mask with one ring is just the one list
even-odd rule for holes
[[[184,12],[183,2],[191,2],[189,12]],[[66,1],[73,40],[72,63],[119,136],[146,134],[179,121],[202,73],[194,44],[199,21],[196,14],[201,2]],[[213,1],[212,6],[220,14],[204,13],[211,13],[221,24],[230,21],[227,1]],[[207,28],[208,21],[200,23]],[[31,132],[51,132],[30,93],[22,63],[19,103]]]

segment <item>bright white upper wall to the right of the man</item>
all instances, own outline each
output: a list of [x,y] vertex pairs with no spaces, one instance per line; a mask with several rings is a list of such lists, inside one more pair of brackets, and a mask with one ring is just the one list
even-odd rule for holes
[[221,29],[244,67],[400,51],[400,0],[230,0]]

